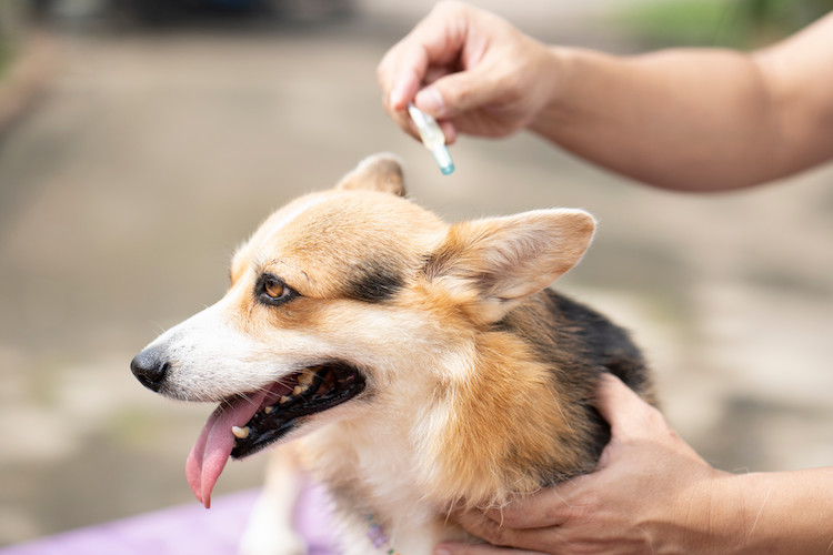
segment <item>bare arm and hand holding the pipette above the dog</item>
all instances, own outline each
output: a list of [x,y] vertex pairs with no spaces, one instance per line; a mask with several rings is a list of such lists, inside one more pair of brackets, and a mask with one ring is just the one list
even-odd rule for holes
[[833,158],[833,14],[769,49],[615,57],[546,47],[505,20],[441,2],[383,58],[385,109],[413,100],[458,133],[529,128],[662,188],[725,190]]

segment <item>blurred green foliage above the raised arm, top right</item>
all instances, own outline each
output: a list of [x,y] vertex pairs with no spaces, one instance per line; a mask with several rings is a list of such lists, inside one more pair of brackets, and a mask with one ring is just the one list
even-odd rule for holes
[[632,6],[618,23],[658,47],[755,48],[833,10],[833,0],[662,0]]

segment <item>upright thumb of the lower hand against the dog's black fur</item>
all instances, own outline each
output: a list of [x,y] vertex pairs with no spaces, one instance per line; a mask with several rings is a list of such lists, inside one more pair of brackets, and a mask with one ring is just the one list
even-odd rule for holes
[[602,374],[595,391],[595,407],[608,421],[613,437],[645,435],[666,427],[660,412],[612,374]]

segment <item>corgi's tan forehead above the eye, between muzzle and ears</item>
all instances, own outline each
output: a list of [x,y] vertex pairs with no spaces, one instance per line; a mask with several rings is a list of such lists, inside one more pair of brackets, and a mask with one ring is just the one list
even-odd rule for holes
[[408,272],[444,229],[431,212],[389,193],[314,193],[272,214],[238,252],[232,274],[277,269],[295,285],[301,280],[314,293],[333,294],[357,273],[394,280]]

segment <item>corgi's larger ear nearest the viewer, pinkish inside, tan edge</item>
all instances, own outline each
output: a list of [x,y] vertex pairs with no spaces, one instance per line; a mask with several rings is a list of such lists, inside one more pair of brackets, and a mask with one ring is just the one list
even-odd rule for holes
[[579,263],[595,230],[581,210],[536,210],[452,225],[425,264],[425,276],[470,317],[500,321],[526,296]]

